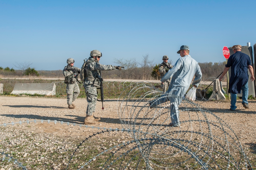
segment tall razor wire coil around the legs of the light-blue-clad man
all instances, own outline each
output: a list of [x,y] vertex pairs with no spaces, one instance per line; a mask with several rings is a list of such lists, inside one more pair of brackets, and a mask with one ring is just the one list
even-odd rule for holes
[[[237,135],[233,130],[219,117],[211,113],[208,109],[191,102],[190,100],[176,95],[163,93],[155,88],[149,82],[140,82],[132,85],[131,90],[124,90],[120,96],[124,98],[118,99],[118,115],[122,126],[125,129],[132,129],[138,131],[137,133],[129,133],[134,139],[151,138],[146,132],[150,134],[159,135],[161,137],[171,139],[181,145],[186,146],[187,149],[193,151],[195,155],[199,156],[203,162],[210,166],[218,166],[220,169],[225,169],[223,164],[228,167],[230,164],[237,164],[235,160],[236,154],[243,155],[240,161],[249,163],[248,158],[243,152],[242,146]],[[167,102],[163,102],[167,99]],[[174,102],[170,102],[174,101]],[[157,106],[150,108],[153,104]],[[170,110],[171,105],[179,106],[178,120],[180,120],[180,127],[171,127]],[[142,133],[144,132],[144,133]],[[146,142],[146,141],[145,141]],[[137,143],[138,146],[144,144]],[[146,157],[145,162],[161,162],[168,165],[168,161],[172,157],[182,157],[180,162],[176,162],[173,166],[165,168],[174,168],[181,166],[191,159],[191,157],[184,158],[184,152],[191,155],[184,150],[177,150],[178,147],[173,148],[168,145],[166,149],[173,151],[167,154],[165,149],[160,150],[158,144],[150,146],[150,152],[144,153],[141,147],[141,153]],[[218,148],[218,151],[215,149]],[[228,159],[218,163],[216,160],[218,156],[228,154]],[[155,155],[161,155],[155,157]],[[217,158],[216,158],[217,156]],[[194,158],[194,156],[193,156]],[[227,157],[225,157],[227,158]],[[244,159],[245,158],[245,159]],[[239,161],[239,163],[240,163]],[[157,164],[157,163],[156,163]],[[155,164],[155,165],[156,165]],[[196,166],[205,168],[203,164],[197,161]],[[237,166],[238,168],[238,166]]]

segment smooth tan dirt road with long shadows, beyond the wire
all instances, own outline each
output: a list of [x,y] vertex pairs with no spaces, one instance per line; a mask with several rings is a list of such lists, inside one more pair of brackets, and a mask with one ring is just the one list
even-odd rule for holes
[[[83,124],[87,101],[78,98],[74,104],[76,109],[68,109],[66,98],[51,97],[27,97],[27,96],[0,96],[0,124],[26,120],[57,120],[70,123]],[[224,120],[241,137],[241,142],[256,143],[256,101],[249,100],[249,109],[237,101],[236,111],[230,111],[229,101],[199,102],[202,107],[209,109],[213,114]],[[104,110],[101,102],[97,101],[95,116],[101,120],[96,127],[122,128],[117,115],[117,99],[104,102]],[[47,126],[46,126],[47,127]],[[42,132],[55,133],[54,129],[41,129]],[[58,134],[62,135],[63,133]]]

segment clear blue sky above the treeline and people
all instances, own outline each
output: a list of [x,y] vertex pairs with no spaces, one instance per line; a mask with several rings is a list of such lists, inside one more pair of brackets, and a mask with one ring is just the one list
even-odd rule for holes
[[102,52],[101,64],[146,54],[174,64],[181,45],[198,62],[223,62],[223,46],[256,43],[255,8],[255,0],[0,0],[0,66],[63,70],[74,58],[81,67],[91,50]]

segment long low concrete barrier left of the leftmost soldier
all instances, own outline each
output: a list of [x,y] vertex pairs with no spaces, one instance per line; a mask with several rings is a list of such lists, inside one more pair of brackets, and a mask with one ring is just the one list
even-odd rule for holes
[[11,94],[56,95],[55,83],[15,83]]

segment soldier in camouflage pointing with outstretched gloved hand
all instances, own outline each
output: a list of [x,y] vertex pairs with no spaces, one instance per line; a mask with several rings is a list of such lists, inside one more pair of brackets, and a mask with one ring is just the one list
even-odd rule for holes
[[84,82],[84,88],[87,99],[87,110],[84,124],[95,124],[100,118],[94,117],[96,101],[97,101],[97,87],[100,87],[102,81],[99,71],[101,70],[121,70],[121,66],[103,65],[99,63],[101,52],[93,50],[90,53],[90,57],[86,60],[86,68],[89,70],[89,75]]

